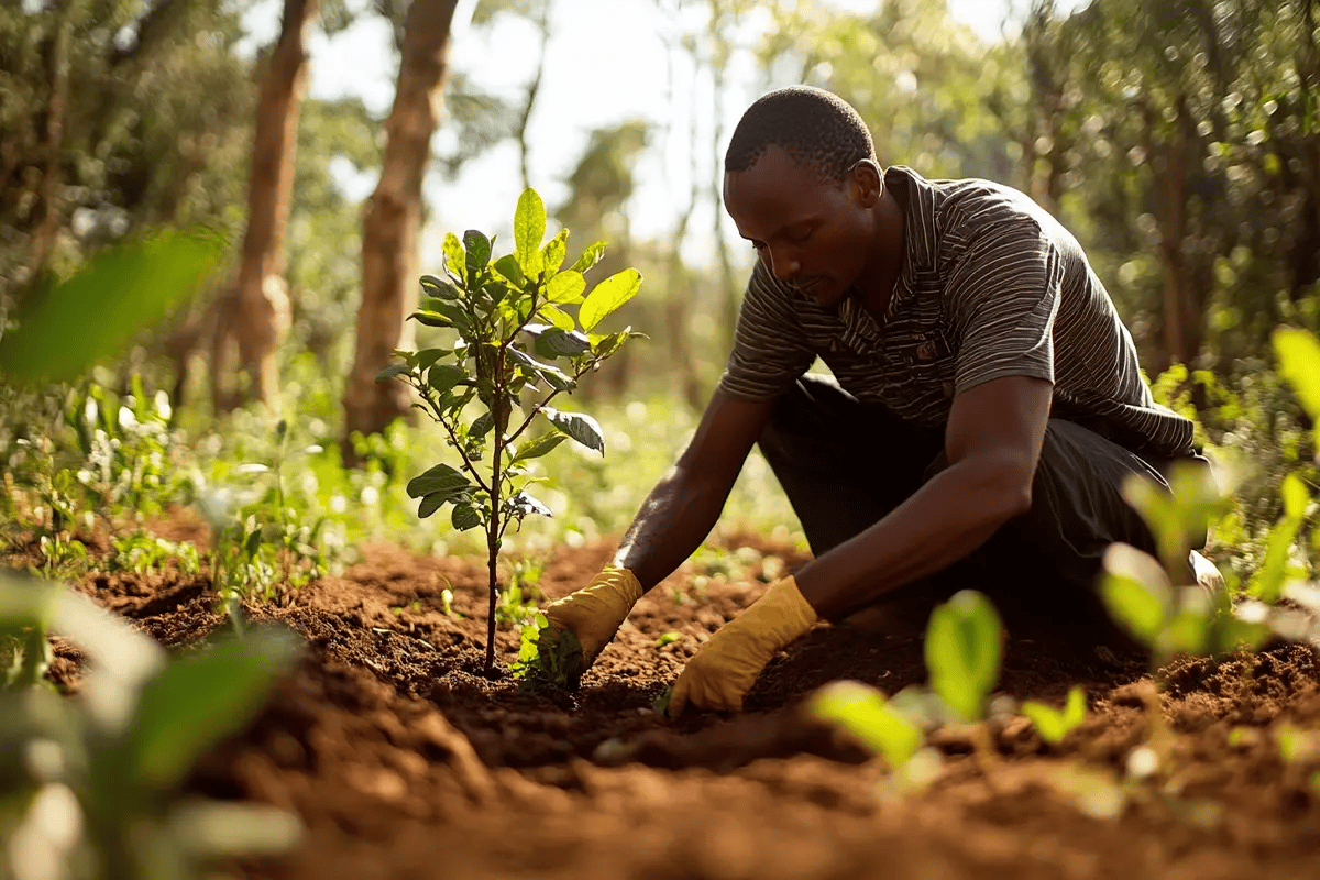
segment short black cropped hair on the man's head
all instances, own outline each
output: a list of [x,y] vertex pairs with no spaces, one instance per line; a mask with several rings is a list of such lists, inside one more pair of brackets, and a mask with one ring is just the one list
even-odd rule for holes
[[841,183],[858,161],[875,158],[871,132],[851,104],[810,86],[777,88],[747,108],[729,141],[725,173],[746,172],[772,145],[832,183]]

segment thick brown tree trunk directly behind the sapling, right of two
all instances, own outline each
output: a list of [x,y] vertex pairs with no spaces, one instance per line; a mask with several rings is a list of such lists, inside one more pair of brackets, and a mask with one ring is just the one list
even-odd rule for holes
[[380,182],[362,219],[362,307],[345,388],[345,462],[355,431],[375,434],[409,409],[403,383],[376,383],[396,348],[411,344],[405,321],[417,305],[417,240],[430,137],[440,123],[449,34],[458,0],[413,0],[408,9],[395,106],[385,123]]

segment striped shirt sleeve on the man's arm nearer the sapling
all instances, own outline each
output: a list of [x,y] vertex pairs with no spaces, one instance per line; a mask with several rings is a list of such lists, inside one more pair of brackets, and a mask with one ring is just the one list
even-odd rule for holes
[[789,293],[758,261],[747,282],[734,348],[719,391],[741,400],[772,400],[810,368],[816,352],[807,342]]

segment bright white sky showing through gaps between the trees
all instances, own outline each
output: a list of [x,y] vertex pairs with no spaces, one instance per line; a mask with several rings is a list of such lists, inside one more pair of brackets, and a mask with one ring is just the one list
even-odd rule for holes
[[[364,0],[350,1],[366,5]],[[865,12],[879,0],[833,1]],[[1081,0],[1064,0],[1060,5],[1080,4]],[[453,69],[466,71],[482,88],[516,98],[535,71],[539,34],[531,22],[513,16],[503,16],[480,30],[471,29],[466,21],[473,5],[474,0],[459,3]],[[664,8],[673,5],[667,3]],[[685,15],[700,15],[704,5],[685,3]],[[280,7],[279,0],[264,0],[247,16],[255,40],[273,40]],[[949,0],[952,13],[987,41],[998,38],[1005,20],[1015,18],[1024,7],[1026,0]],[[694,71],[682,49],[671,47],[684,25],[693,22],[672,20],[656,0],[554,0],[552,11],[545,73],[529,124],[532,185],[553,208],[566,195],[561,181],[572,172],[593,129],[627,119],[651,120],[659,128],[638,165],[639,187],[630,218],[635,236],[663,235],[672,228],[677,206],[684,203],[690,186],[693,106],[702,141],[697,173],[702,183],[717,174],[709,77]],[[388,25],[374,15],[359,16],[356,24],[334,38],[318,30],[312,42],[312,94],[358,95],[383,117],[393,100],[397,73]],[[696,83],[694,75],[701,77]],[[725,70],[730,88],[725,137],[756,98],[754,77],[748,63],[735,61]],[[449,137],[441,129],[437,146],[442,148]],[[479,228],[507,237],[521,189],[517,169],[517,148],[507,142],[470,162],[457,181],[432,174],[426,182],[432,228],[422,245],[424,263],[436,259],[440,237],[447,230]],[[355,174],[346,161],[335,170],[354,198],[364,198],[375,186],[374,173]],[[692,228],[710,230],[711,210],[704,203]],[[692,259],[705,260],[709,247],[697,244],[698,237],[693,236],[686,251]]]

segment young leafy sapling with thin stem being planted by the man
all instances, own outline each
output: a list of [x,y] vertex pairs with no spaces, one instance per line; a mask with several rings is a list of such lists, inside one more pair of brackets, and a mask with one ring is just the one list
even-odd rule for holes
[[[513,253],[491,261],[492,241],[469,230],[459,241],[445,237],[447,280],[424,276],[426,294],[412,317],[428,327],[453,331],[450,344],[401,351],[378,381],[397,377],[421,397],[421,409],[438,422],[458,454],[458,467],[440,463],[408,483],[420,500],[417,515],[451,505],[458,530],[486,533],[490,571],[486,672],[495,664],[499,599],[496,563],[506,529],[528,515],[550,511],[527,487],[528,463],[564,439],[605,451],[601,427],[590,416],[554,409],[638,334],[594,332],[599,322],[631,299],[642,285],[636,269],[624,269],[586,292],[583,273],[599,261],[594,244],[568,269],[568,230],[541,247],[545,206],[527,189],[513,215]],[[577,306],[577,317],[565,307]],[[581,326],[581,330],[578,330]],[[560,364],[560,365],[557,365]],[[533,425],[549,427],[533,435]]]

